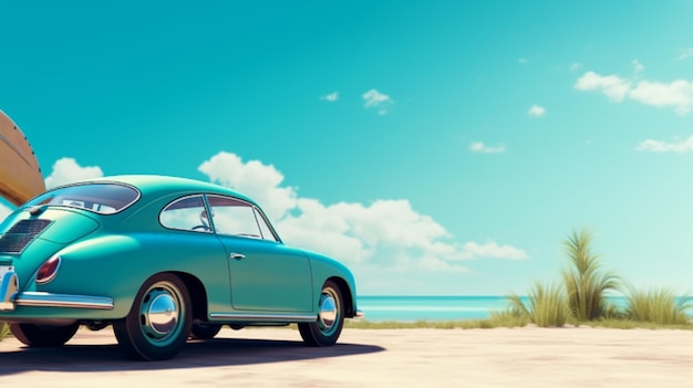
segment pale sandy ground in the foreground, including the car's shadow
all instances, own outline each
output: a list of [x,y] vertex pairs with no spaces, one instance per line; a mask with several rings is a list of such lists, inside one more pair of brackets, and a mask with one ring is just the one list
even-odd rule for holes
[[224,329],[168,361],[124,358],[110,329],[64,347],[0,343],[3,387],[691,387],[693,332],[346,329],[309,348],[291,329]]

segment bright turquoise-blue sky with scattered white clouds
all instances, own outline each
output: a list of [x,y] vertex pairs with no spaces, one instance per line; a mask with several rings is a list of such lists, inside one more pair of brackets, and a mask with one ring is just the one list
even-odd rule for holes
[[[693,291],[690,1],[11,2],[0,109],[49,186],[214,180],[363,294],[524,293],[589,228]],[[7,213],[0,208],[0,216]]]

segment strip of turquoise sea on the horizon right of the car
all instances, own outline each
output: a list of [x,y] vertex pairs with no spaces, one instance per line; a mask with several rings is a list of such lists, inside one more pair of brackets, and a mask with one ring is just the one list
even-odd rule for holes
[[[523,297],[527,303],[527,297]],[[609,297],[623,305],[623,297]],[[504,310],[505,296],[359,296],[358,306],[365,319],[373,322],[455,321],[487,318],[494,310]]]

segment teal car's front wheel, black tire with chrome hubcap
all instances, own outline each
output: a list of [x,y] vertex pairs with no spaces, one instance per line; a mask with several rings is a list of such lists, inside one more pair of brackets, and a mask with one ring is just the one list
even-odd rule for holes
[[344,327],[344,302],[333,281],[327,281],[320,292],[318,321],[299,323],[299,333],[308,346],[332,346]]

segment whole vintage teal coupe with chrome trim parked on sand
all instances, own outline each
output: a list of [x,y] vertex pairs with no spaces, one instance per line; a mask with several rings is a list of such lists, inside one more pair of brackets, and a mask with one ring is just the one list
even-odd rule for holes
[[329,346],[359,316],[343,264],[283,244],[255,201],[213,183],[99,178],[0,223],[0,322],[28,346],[111,325],[130,356],[158,360],[223,325],[290,323]]

